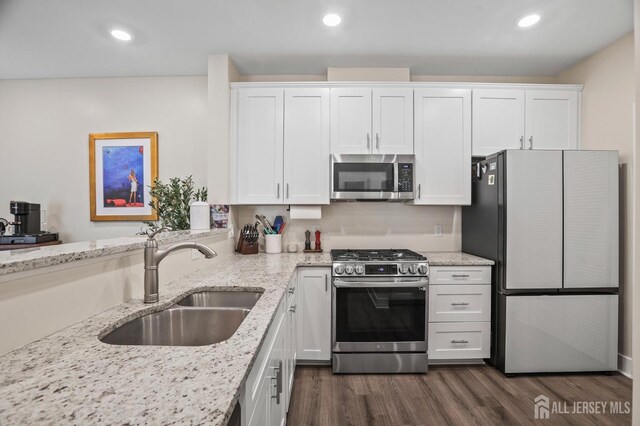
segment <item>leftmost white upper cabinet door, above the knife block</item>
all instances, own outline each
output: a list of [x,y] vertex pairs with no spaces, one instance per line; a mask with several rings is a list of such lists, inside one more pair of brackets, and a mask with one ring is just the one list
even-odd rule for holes
[[281,204],[283,90],[240,90],[238,102],[238,203]]

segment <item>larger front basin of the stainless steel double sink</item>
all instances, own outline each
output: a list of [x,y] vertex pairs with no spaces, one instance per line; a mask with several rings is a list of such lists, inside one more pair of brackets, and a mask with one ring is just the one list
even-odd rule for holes
[[129,321],[100,340],[112,345],[211,345],[233,336],[248,314],[238,308],[169,308]]

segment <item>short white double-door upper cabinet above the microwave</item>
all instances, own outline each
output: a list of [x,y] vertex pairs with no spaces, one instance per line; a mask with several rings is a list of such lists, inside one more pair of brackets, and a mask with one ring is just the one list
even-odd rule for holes
[[331,89],[332,154],[413,154],[413,89]]

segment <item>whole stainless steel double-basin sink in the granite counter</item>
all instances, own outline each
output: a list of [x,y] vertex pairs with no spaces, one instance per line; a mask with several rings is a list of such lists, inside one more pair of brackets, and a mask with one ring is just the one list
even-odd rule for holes
[[203,346],[236,332],[261,292],[201,291],[164,311],[131,320],[100,339],[112,345]]

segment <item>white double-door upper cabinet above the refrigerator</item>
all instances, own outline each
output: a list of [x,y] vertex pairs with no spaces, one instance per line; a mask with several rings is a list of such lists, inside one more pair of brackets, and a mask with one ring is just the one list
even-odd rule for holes
[[503,149],[577,149],[575,90],[473,91],[473,155]]

